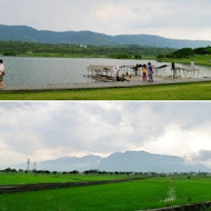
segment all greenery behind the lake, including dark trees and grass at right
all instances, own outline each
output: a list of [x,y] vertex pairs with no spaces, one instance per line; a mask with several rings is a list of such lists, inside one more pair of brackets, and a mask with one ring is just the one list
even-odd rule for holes
[[141,46],[81,46],[46,44],[37,42],[0,41],[0,56],[46,58],[110,58],[110,59],[158,59],[160,62],[177,62],[211,66],[211,47],[152,48]]

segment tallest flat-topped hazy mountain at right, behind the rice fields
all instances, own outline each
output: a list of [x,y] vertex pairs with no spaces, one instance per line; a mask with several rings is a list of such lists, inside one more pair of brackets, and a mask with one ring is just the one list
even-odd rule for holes
[[142,172],[190,172],[210,171],[205,165],[185,163],[182,158],[151,154],[148,152],[118,152],[102,159],[100,170]]

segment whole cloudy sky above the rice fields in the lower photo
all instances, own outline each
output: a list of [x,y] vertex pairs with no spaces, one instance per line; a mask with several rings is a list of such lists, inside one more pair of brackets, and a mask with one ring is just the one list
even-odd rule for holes
[[0,165],[144,150],[211,167],[210,103],[0,104]]

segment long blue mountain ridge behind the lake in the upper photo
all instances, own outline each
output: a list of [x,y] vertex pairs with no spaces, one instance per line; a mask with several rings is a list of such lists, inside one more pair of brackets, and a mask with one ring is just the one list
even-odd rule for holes
[[159,36],[107,36],[91,31],[39,31],[26,26],[0,24],[0,41],[16,40],[40,43],[67,43],[67,44],[92,44],[92,46],[122,46],[139,44],[157,48],[199,48],[211,46],[211,41],[202,40],[177,40]]

